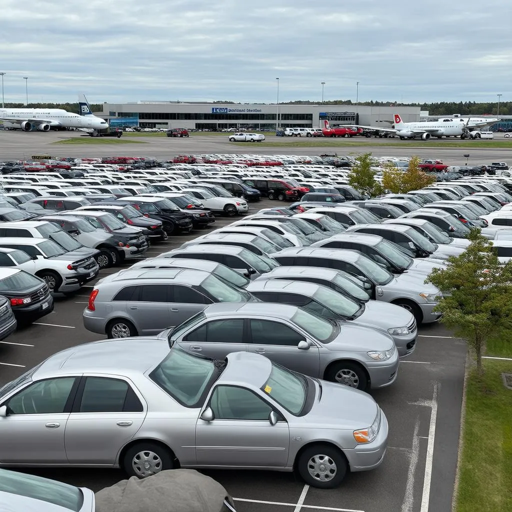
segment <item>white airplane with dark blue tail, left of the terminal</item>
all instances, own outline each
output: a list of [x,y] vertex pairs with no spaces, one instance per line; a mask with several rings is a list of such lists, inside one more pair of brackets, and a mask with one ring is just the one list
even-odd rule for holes
[[104,119],[93,115],[83,94],[78,97],[78,108],[80,114],[63,109],[0,109],[0,121],[4,121],[4,126],[19,127],[24,132],[34,127],[40,132],[49,132],[51,128],[106,130],[109,127]]

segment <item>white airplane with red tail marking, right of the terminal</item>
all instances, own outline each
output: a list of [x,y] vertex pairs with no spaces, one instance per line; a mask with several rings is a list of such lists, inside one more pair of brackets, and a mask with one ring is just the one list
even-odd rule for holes
[[[429,140],[431,137],[460,137],[461,139],[479,139],[478,131],[470,131],[470,128],[482,128],[498,122],[498,119],[486,118],[443,118],[437,121],[423,121],[405,123],[399,114],[394,114],[395,123],[392,128],[383,128],[380,126],[362,126],[355,125],[364,130],[373,130],[378,132],[387,132],[397,135],[401,140],[415,139]],[[471,121],[471,124],[470,124]]]

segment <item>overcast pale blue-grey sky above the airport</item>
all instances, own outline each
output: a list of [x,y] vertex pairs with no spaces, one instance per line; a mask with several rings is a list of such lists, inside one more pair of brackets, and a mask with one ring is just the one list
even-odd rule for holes
[[5,100],[512,100],[506,0],[0,0]]

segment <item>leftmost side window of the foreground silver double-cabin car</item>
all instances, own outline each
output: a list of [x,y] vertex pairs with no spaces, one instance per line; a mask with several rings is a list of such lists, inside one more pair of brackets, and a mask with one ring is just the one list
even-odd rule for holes
[[63,413],[74,383],[75,377],[34,382],[8,401],[7,411],[10,415]]

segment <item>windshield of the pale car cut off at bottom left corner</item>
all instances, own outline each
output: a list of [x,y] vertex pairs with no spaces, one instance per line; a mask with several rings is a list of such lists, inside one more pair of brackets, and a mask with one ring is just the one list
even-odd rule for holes
[[[78,512],[83,505],[83,494],[78,487],[14,471],[0,470],[0,493],[45,501],[57,505],[59,509],[74,512]],[[47,506],[42,506],[42,509],[50,510]]]

